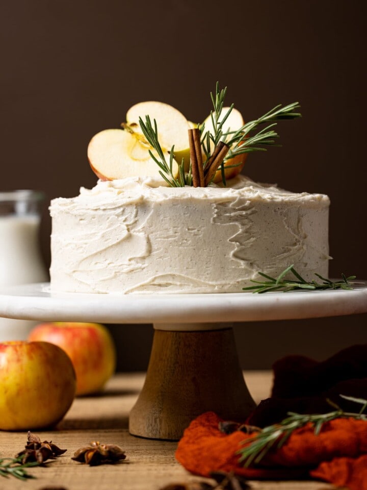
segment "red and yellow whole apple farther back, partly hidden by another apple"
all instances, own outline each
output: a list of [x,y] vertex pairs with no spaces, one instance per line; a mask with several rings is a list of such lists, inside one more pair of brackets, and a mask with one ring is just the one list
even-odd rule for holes
[[115,372],[114,341],[103,325],[41,323],[30,332],[28,339],[51,342],[68,354],[75,369],[77,395],[97,393]]

